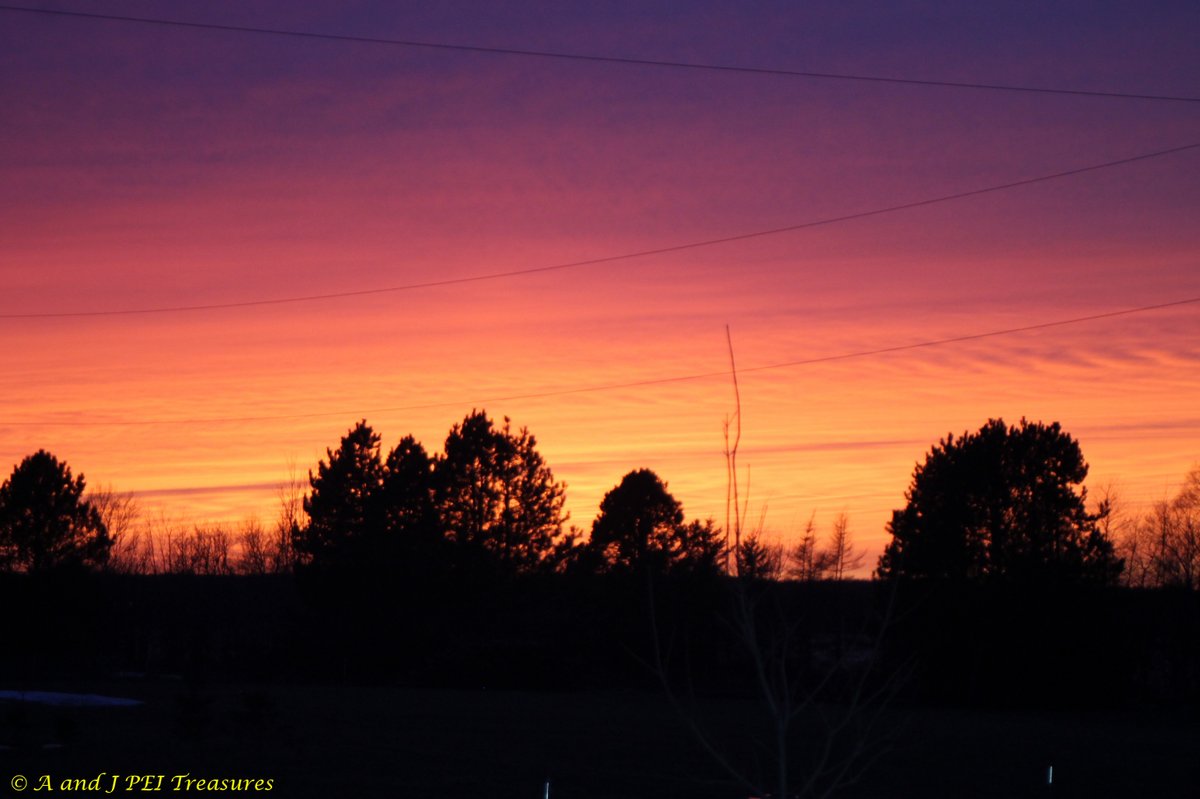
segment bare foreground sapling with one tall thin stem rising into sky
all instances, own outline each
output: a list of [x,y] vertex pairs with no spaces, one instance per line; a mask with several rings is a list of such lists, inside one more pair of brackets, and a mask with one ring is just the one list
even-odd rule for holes
[[[728,330],[726,329],[726,334]],[[737,395],[737,370],[730,342],[730,365],[734,379],[737,409],[740,419],[740,397]],[[880,618],[853,639],[858,647],[836,647],[832,659],[822,660],[814,648],[806,619],[790,615],[782,591],[790,589],[797,597],[796,585],[762,579],[760,573],[772,573],[779,561],[761,541],[761,530],[743,535],[745,506],[739,505],[737,486],[737,447],[740,422],[730,440],[726,431],[727,488],[726,536],[734,547],[730,563],[737,572],[731,575],[732,614],[728,619],[733,637],[742,644],[749,665],[754,692],[766,716],[769,734],[758,741],[768,759],[767,768],[746,769],[721,738],[702,721],[695,696],[680,692],[671,678],[670,648],[665,648],[659,630],[654,590],[650,594],[650,624],[653,636],[653,667],[666,696],[684,720],[688,729],[709,756],[744,789],[752,795],[784,798],[827,798],[853,783],[882,751],[878,726],[888,698],[894,693],[899,674],[877,675],[872,668],[880,651],[881,636],[888,626],[892,599]],[[815,558],[815,530],[810,548]],[[840,543],[839,541],[840,535]],[[853,567],[856,553],[850,541],[845,517],[835,525],[839,576]],[[894,594],[893,594],[894,597]],[[806,757],[799,757],[800,752]]]

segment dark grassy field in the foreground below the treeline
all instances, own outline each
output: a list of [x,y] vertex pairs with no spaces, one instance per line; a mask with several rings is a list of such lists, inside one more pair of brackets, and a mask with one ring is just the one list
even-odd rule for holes
[[[17,686],[0,686],[13,689]],[[281,797],[742,798],[664,698],[169,679],[37,685],[139,698],[136,708],[0,702],[0,795],[13,775],[271,779]],[[752,704],[704,708],[745,755]],[[892,708],[888,744],[845,797],[1193,797],[1200,723],[1163,710]],[[752,762],[751,759],[748,762]],[[1046,786],[1054,765],[1055,783]],[[119,783],[118,794],[125,793]],[[79,792],[76,792],[79,793]],[[85,795],[98,795],[85,792]],[[127,793],[125,795],[128,795]],[[152,795],[152,794],[151,794]],[[212,794],[210,794],[212,795]],[[218,793],[216,795],[238,795]]]

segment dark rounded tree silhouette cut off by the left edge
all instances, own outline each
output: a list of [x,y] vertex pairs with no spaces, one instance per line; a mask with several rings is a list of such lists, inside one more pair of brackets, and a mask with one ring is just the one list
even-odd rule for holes
[[0,569],[103,565],[112,540],[84,487],[83,475],[46,450],[26,456],[0,486]]

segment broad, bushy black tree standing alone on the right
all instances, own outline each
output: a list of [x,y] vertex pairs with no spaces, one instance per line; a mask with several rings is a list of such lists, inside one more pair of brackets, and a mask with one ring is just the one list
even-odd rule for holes
[[1108,584],[1121,573],[1098,516],[1086,510],[1079,444],[1057,422],[992,419],[948,435],[913,471],[881,577]]

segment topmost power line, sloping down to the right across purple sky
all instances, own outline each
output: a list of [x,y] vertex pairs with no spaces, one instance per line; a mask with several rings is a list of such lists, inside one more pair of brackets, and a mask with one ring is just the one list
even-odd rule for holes
[[284,30],[278,28],[254,28],[247,25],[229,25],[220,23],[197,23],[180,19],[161,19],[154,17],[128,17],[122,14],[100,14],[83,11],[62,11],[56,8],[29,8],[25,6],[0,5],[0,11],[25,12],[58,17],[76,17],[83,19],[103,19],[108,22],[137,23],[143,25],[162,25],[169,28],[190,28],[198,30],[216,30],[238,34],[257,34],[268,36],[290,36],[331,42],[350,42],[355,44],[386,44],[391,47],[412,47],[437,50],[455,50],[461,53],[484,53],[488,55],[512,55],[522,58],[559,59],[569,61],[592,61],[598,64],[622,64],[628,66],[667,67],[676,70],[706,70],[712,72],[736,72],[745,74],[775,76],[786,78],[810,78],[821,80],[857,80],[866,83],[904,84],[913,86],[938,86],[946,89],[974,89],[985,91],[1019,91],[1043,95],[1073,95],[1080,97],[1108,97],[1118,100],[1150,100],[1159,102],[1196,103],[1200,97],[1176,95],[1151,95],[1123,91],[1092,91],[1086,89],[1056,89],[995,83],[971,83],[959,80],[923,80],[917,78],[894,78],[886,76],[848,74],[839,72],[812,72],[802,70],[779,70],[769,67],[748,67],[727,64],[702,64],[695,61],[671,61],[664,59],[635,59],[616,55],[594,55],[587,53],[564,53],[557,50],[530,50],[510,47],[482,47],[478,44],[454,44],[448,42],[427,42],[403,38],[382,38],[376,36],[350,36],[344,34],[318,34],[313,31]]

